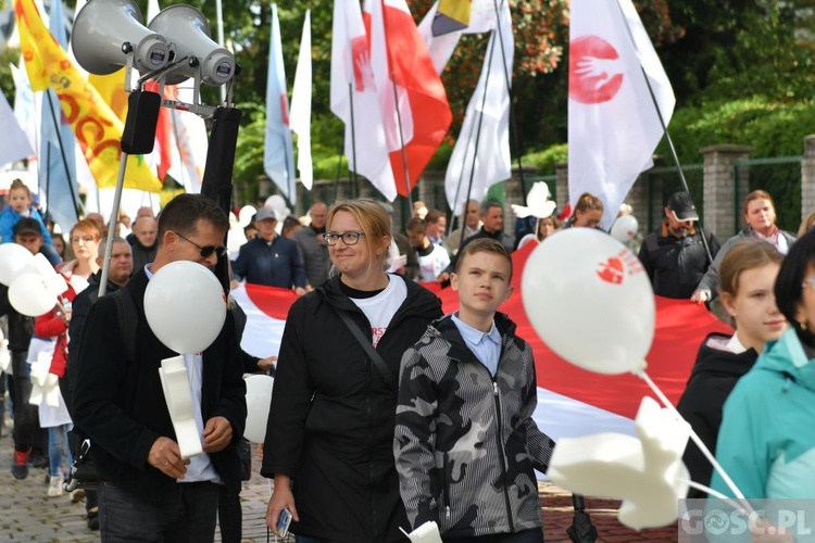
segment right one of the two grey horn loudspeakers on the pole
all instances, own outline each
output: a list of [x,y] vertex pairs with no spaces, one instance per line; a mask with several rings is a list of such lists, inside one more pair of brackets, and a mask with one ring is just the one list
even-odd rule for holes
[[165,83],[177,85],[201,74],[201,81],[217,87],[235,75],[235,56],[211,38],[210,24],[203,13],[191,5],[171,5],[159,13],[148,25],[164,36],[175,48],[175,59],[183,62],[167,72]]

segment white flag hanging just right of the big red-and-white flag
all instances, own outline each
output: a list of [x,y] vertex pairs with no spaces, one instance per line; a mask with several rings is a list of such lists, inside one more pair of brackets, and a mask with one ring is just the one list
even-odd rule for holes
[[[492,13],[494,14],[494,9]],[[499,13],[500,31],[492,17],[493,30],[484,56],[481,75],[467,104],[462,129],[444,175],[447,201],[456,213],[465,209],[467,197],[481,201],[492,185],[512,176],[507,78],[512,77],[515,46],[509,0],[501,1]],[[481,24],[487,22],[489,20]],[[434,42],[438,39],[434,38]],[[499,39],[503,40],[503,47]]]

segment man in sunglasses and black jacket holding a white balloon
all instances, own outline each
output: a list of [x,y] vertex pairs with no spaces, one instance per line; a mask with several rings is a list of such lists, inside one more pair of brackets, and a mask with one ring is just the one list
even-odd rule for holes
[[[212,345],[184,357],[204,454],[183,459],[159,377],[161,361],[176,353],[155,337],[143,307],[148,282],[163,266],[188,261],[214,268],[226,253],[228,227],[224,212],[206,197],[176,197],[159,218],[153,263],[88,312],[74,421],[90,438],[103,479],[97,485],[102,541],[213,541],[220,488],[240,489],[237,443],[247,406],[231,313]],[[127,318],[114,299],[122,294],[133,302]],[[133,328],[122,328],[120,320],[135,328],[131,341],[123,336]]]

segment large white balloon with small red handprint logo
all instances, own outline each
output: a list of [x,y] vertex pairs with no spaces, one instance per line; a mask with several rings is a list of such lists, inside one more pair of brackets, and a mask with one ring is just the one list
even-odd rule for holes
[[521,292],[538,336],[575,366],[609,375],[644,367],[654,337],[651,281],[607,233],[549,236],[529,255]]

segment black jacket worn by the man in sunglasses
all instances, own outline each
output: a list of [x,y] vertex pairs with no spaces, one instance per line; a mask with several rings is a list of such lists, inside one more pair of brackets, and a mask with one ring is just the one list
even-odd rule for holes
[[[176,356],[150,329],[145,317],[148,277],[139,270],[125,289],[139,315],[136,362],[128,363],[116,319],[116,303],[102,296],[91,305],[79,342],[74,383],[74,422],[91,438],[91,453],[103,478],[154,503],[171,498],[174,479],[147,462],[160,437],[176,439],[159,378],[163,358]],[[231,491],[240,488],[240,459],[236,444],[246,426],[243,364],[227,312],[221,333],[203,352],[201,414],[204,424],[214,416],[229,420],[231,443],[210,454],[215,470]],[[166,505],[166,504],[165,504]]]

